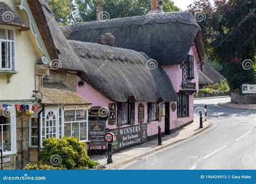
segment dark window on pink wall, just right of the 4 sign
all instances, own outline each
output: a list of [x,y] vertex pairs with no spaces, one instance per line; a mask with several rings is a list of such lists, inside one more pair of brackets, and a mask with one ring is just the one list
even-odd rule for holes
[[117,103],[117,110],[118,110],[118,125],[127,125],[129,124],[128,119],[128,103]]

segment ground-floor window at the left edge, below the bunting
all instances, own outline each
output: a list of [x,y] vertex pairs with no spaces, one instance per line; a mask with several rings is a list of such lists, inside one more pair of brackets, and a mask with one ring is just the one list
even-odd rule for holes
[[[0,104],[1,105],[1,104]],[[4,153],[16,151],[16,112],[14,107],[0,110],[0,147]]]

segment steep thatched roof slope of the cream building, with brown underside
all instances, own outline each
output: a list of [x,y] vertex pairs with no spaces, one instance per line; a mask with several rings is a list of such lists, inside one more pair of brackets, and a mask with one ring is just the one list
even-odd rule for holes
[[38,0],[28,2],[51,60],[59,60],[60,69],[83,70],[79,58],[60,31],[48,4]]

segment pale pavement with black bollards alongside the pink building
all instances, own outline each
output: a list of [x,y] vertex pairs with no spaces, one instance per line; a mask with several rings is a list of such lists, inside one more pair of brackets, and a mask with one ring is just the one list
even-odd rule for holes
[[195,116],[193,123],[185,126],[177,132],[172,133],[171,135],[166,135],[165,137],[163,137],[162,145],[158,145],[158,139],[153,139],[147,141],[144,144],[134,146],[124,151],[113,153],[113,164],[110,165],[106,165],[107,159],[105,158],[105,155],[94,155],[91,157],[91,159],[97,160],[101,165],[105,165],[106,169],[117,169],[119,167],[122,167],[126,163],[155,153],[156,151],[162,150],[163,148],[176,144],[182,140],[191,138],[192,136],[203,132],[204,130],[209,128],[211,124],[212,121],[210,120],[203,121],[204,128],[200,129],[199,117]]

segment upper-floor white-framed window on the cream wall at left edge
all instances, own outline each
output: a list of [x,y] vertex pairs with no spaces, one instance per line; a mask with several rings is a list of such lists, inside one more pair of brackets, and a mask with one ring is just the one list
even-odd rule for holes
[[15,31],[0,29],[0,70],[15,70]]

